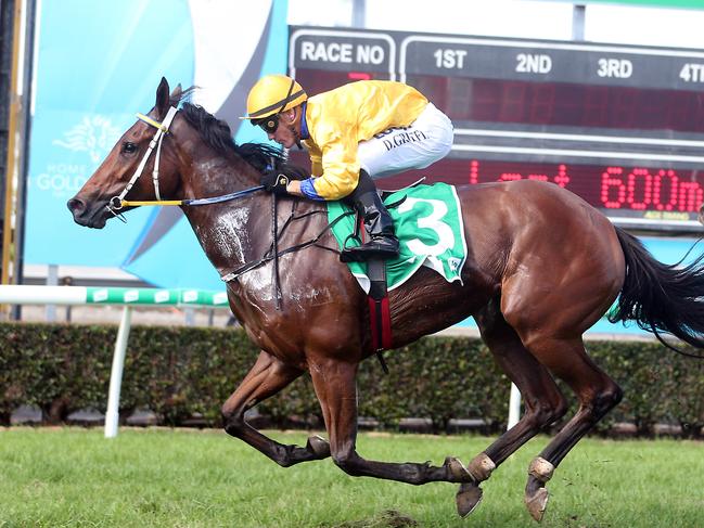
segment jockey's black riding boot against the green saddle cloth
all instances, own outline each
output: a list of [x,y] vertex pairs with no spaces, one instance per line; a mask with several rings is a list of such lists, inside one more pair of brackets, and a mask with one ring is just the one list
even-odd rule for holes
[[398,257],[394,220],[367,172],[360,171],[357,189],[345,201],[351,203],[361,216],[370,240],[361,246],[345,248],[340,260],[354,262]]

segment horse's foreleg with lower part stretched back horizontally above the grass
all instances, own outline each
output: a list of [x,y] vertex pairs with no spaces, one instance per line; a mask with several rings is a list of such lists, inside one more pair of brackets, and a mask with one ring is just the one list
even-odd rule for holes
[[391,463],[362,459],[357,439],[357,363],[324,359],[311,362],[310,374],[330,436],[330,452],[340,468],[351,476],[367,476],[421,485],[432,481],[462,482],[471,475],[456,459],[443,466],[430,463]]

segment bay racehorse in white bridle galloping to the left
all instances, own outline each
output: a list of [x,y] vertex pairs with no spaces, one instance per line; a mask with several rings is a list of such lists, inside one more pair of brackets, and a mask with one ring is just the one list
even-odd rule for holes
[[[139,205],[135,202],[184,201],[178,203],[205,254],[229,275],[233,313],[261,350],[222,405],[225,429],[281,466],[332,456],[354,476],[458,482],[457,507],[464,516],[481,500],[479,485],[491,472],[566,413],[556,376],[574,390],[579,408],[529,464],[525,502],[540,520],[549,498],[546,484],[558,464],[622,399],[620,388],[587,356],[584,332],[618,298],[614,320],[632,319],[658,337],[669,333],[704,347],[701,257],[687,267],[665,266],[637,239],[552,183],[460,186],[469,253],[462,283],[421,268],[389,292],[391,348],[473,315],[496,361],[521,390],[525,413],[466,465],[451,456],[440,466],[363,459],[356,449],[355,378],[359,363],[375,350],[366,294],[340,262],[325,206],[259,192],[261,171],[267,165],[283,167],[284,159],[270,147],[234,144],[225,123],[182,101],[188,92],[179,86],[169,94],[162,79],[155,106],[139,115],[67,205],[76,222],[100,229]],[[154,147],[157,154],[151,156]],[[140,178],[144,169],[153,170],[153,181]],[[238,199],[188,203],[238,192],[243,193]],[[130,201],[121,202],[126,196]],[[305,447],[285,446],[245,422],[245,411],[305,372],[328,440],[310,436]]]

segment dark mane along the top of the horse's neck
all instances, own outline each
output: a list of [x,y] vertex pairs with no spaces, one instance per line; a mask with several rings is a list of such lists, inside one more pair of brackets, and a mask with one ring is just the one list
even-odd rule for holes
[[[181,94],[181,101],[188,98],[194,90],[195,87],[184,90]],[[259,172],[264,172],[269,168],[280,169],[285,167],[290,171],[299,171],[304,178],[307,176],[307,171],[300,167],[286,163],[283,153],[277,147],[264,143],[242,143],[238,145],[232,138],[232,131],[229,125],[208,113],[202,106],[190,102],[182,102],[180,111],[185,120],[199,131],[203,141],[215,151],[221,154],[233,152]]]

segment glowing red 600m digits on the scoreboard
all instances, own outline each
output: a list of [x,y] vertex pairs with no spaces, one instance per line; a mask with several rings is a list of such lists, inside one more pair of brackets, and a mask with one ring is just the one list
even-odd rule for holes
[[[651,172],[652,170],[652,172]],[[695,213],[704,190],[681,180],[674,170],[606,167],[601,175],[601,203],[606,209]]]

